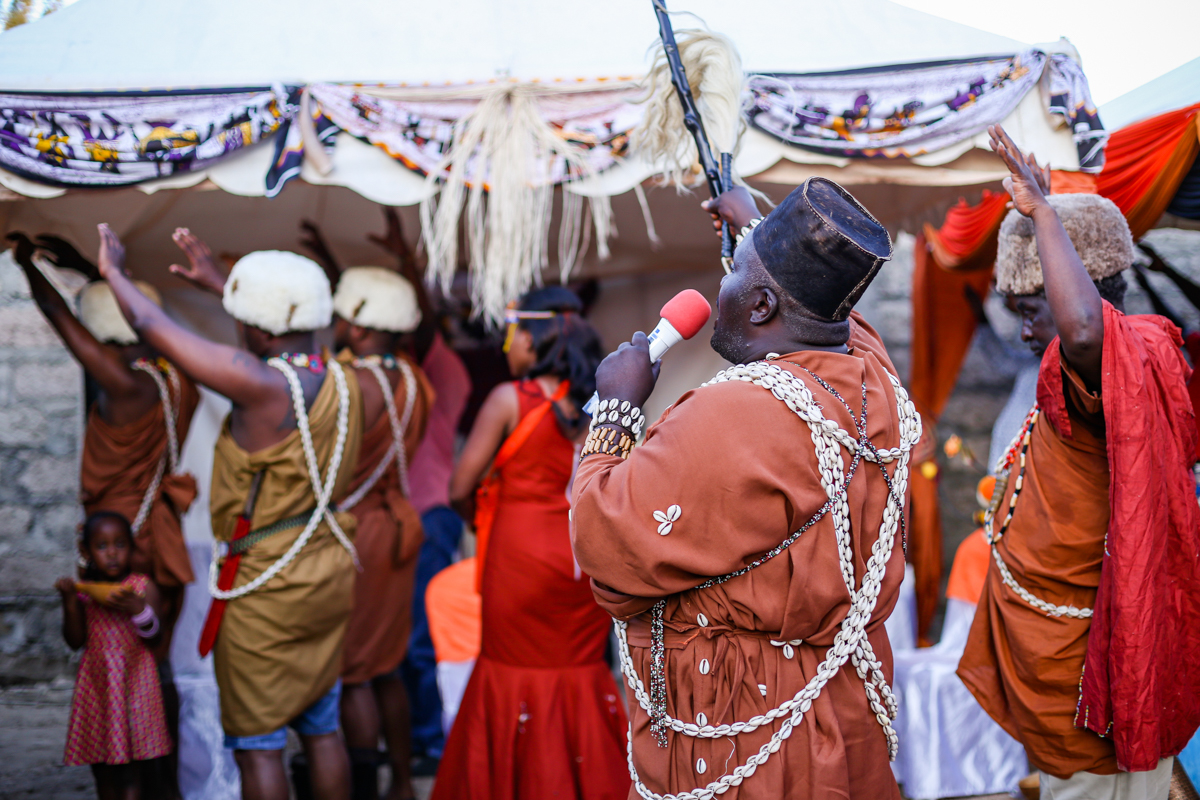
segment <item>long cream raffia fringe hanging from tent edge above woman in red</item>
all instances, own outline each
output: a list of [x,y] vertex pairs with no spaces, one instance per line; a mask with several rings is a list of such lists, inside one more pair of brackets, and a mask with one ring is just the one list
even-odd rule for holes
[[[504,306],[540,283],[542,271],[550,266],[556,161],[565,164],[570,175],[566,182],[594,173],[583,150],[563,139],[539,107],[539,98],[577,91],[596,91],[596,86],[514,83],[412,92],[428,100],[479,101],[455,125],[454,144],[426,179],[431,184],[440,181],[442,191],[421,203],[420,215],[430,279],[445,290],[458,269],[460,223],[464,223],[472,302],[475,313],[491,321],[498,323]],[[400,94],[391,91],[388,96]],[[558,240],[559,275],[564,281],[587,251],[593,228],[600,258],[608,255],[612,210],[607,198],[589,204],[590,219],[583,215],[584,198],[564,184]]]

